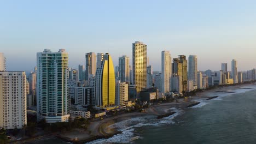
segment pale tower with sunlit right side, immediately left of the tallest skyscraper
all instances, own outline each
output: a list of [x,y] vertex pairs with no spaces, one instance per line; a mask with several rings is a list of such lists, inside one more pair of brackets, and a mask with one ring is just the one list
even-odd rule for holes
[[119,80],[121,82],[130,82],[130,58],[127,56],[119,57]]

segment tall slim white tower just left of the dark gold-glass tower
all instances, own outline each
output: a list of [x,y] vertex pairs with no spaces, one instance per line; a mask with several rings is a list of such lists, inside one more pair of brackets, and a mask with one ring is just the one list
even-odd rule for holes
[[162,51],[162,89],[159,89],[162,93],[170,92],[170,79],[172,76],[172,60],[170,51]]

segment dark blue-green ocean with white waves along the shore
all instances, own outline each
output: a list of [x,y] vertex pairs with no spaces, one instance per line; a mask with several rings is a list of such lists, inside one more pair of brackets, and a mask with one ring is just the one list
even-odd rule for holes
[[[216,99],[176,109],[172,116],[132,118],[111,125],[123,133],[91,143],[256,143],[256,86],[212,92]],[[136,140],[131,140],[136,137]]]

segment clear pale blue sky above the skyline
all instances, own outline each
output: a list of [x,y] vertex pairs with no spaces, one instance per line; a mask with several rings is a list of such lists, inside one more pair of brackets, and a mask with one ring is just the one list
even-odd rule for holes
[[85,65],[86,52],[109,52],[114,65],[132,43],[147,44],[149,64],[161,70],[161,51],[197,55],[199,70],[219,70],[237,59],[256,68],[256,1],[2,1],[0,52],[7,70],[30,71],[36,53],[66,49],[69,67]]

